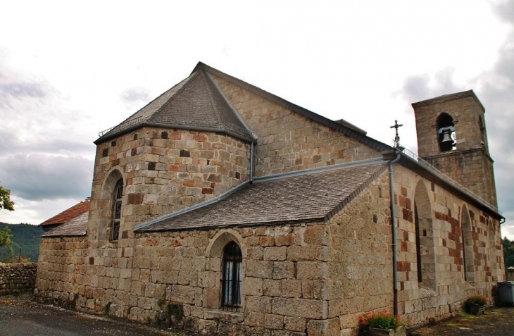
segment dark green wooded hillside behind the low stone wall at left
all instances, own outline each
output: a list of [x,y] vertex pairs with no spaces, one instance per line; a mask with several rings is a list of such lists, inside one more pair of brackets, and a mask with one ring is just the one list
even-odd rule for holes
[[[0,230],[4,230],[6,225],[11,229],[11,235],[13,235],[12,241],[21,247],[21,256],[23,258],[30,258],[30,261],[37,263],[39,256],[39,242],[41,241],[41,235],[43,229],[37,225],[30,224],[6,224],[0,223]],[[13,245],[14,255],[18,256],[20,248]],[[2,249],[1,257],[6,256],[6,251]]]

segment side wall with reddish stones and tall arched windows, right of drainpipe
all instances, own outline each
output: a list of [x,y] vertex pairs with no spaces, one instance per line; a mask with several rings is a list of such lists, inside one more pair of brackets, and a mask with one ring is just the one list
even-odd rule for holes
[[494,302],[496,282],[505,279],[499,221],[411,170],[394,169],[399,313],[426,323],[455,313],[470,294]]

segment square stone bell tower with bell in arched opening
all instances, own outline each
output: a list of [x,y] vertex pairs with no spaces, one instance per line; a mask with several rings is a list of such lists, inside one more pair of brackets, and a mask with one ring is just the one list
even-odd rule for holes
[[412,104],[418,155],[442,173],[497,206],[485,108],[472,90]]

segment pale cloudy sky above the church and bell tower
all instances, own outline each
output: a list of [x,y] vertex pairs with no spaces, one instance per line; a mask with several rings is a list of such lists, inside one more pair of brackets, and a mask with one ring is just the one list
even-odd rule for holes
[[[215,4],[216,3],[216,4]],[[514,0],[0,0],[0,184],[39,224],[89,196],[98,132],[198,61],[416,151],[410,103],[474,89],[514,239]]]

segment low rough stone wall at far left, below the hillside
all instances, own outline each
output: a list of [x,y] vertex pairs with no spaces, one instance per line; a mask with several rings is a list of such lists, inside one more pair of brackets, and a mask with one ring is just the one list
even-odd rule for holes
[[34,290],[37,263],[0,263],[0,295]]

